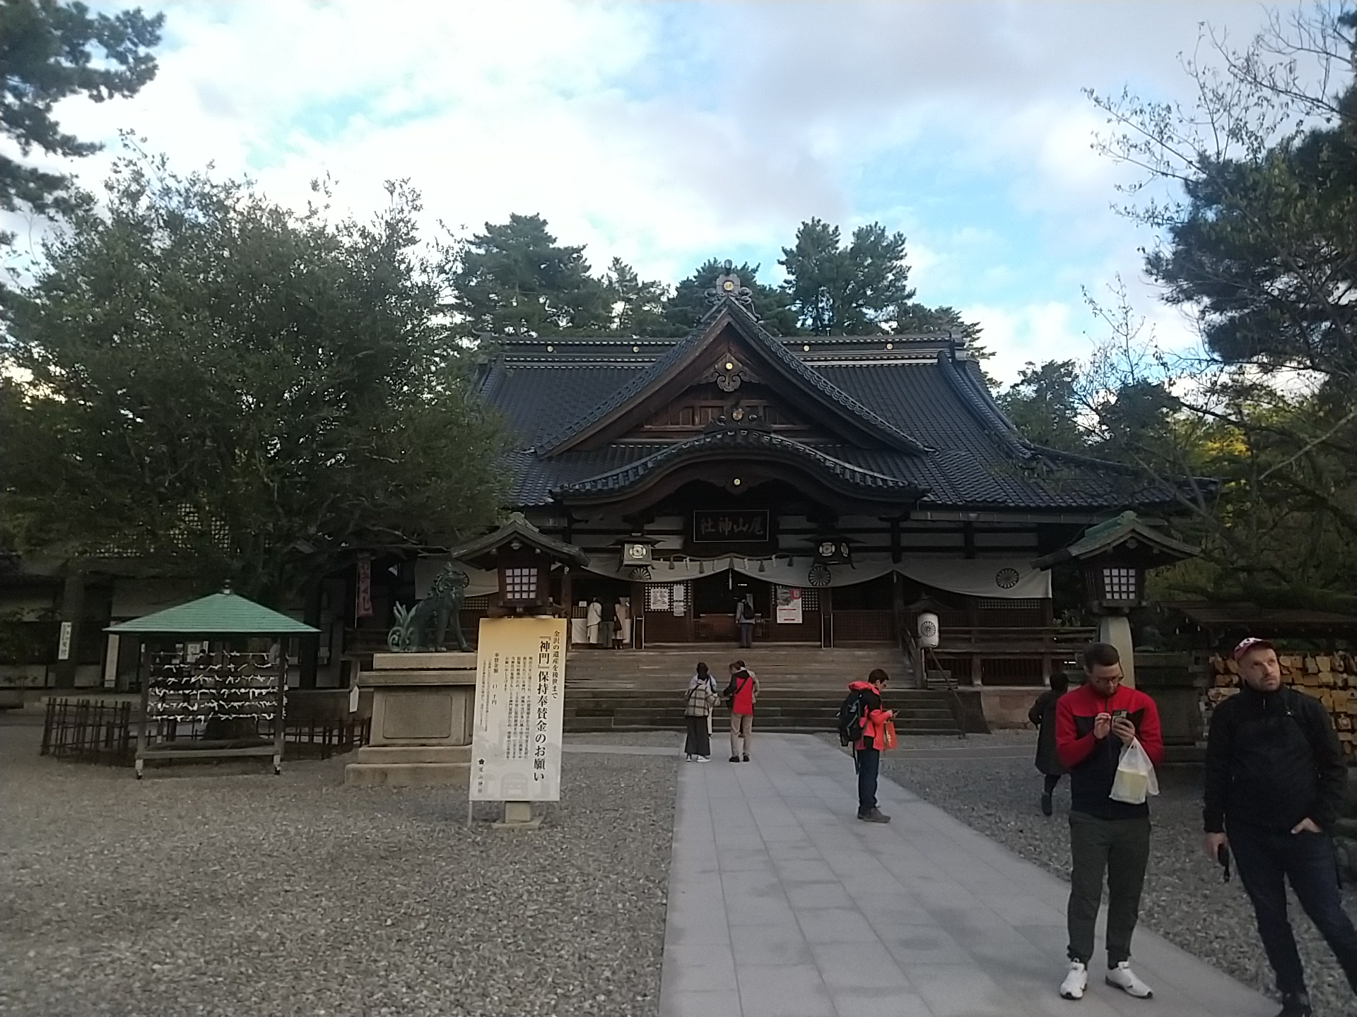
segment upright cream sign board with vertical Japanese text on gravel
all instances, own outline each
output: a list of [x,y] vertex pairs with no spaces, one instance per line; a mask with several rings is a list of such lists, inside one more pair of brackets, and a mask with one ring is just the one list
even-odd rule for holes
[[566,618],[482,618],[472,801],[559,801]]

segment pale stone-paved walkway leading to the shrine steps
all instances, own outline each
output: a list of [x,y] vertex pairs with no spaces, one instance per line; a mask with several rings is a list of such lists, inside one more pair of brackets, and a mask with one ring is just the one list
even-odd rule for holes
[[1064,974],[1068,884],[882,780],[856,820],[852,762],[810,735],[680,763],[661,1017],[1270,1017],[1276,1005],[1136,932],[1132,999]]

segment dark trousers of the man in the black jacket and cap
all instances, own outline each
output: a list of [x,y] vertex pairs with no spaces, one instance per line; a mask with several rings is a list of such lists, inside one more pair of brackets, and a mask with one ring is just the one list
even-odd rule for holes
[[1338,894],[1338,865],[1326,834],[1292,834],[1232,823],[1227,830],[1239,881],[1254,903],[1258,936],[1280,993],[1304,993],[1305,972],[1286,918],[1286,881],[1357,991],[1357,930]]

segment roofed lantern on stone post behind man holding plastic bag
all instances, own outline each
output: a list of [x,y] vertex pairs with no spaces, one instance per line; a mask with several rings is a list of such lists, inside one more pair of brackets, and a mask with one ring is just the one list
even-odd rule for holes
[[1125,683],[1136,686],[1136,654],[1128,614],[1145,603],[1145,572],[1196,557],[1201,551],[1155,529],[1136,513],[1090,526],[1067,548],[1033,561],[1033,568],[1077,563],[1084,601],[1098,617],[1098,640],[1121,654]]

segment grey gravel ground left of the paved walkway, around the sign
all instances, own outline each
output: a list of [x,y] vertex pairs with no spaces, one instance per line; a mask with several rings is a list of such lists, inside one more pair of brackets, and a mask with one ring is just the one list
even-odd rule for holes
[[512,833],[343,757],[138,782],[39,736],[0,727],[3,1014],[658,1013],[670,758],[566,755]]

